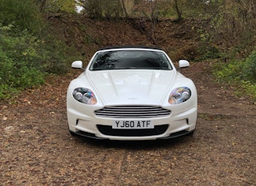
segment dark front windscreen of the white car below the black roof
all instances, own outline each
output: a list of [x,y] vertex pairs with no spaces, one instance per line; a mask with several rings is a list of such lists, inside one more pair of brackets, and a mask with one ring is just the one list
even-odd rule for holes
[[172,70],[164,53],[146,50],[117,50],[98,53],[89,70]]

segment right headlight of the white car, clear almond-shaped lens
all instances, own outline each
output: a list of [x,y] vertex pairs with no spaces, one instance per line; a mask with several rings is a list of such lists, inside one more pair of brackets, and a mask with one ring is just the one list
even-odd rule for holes
[[171,91],[169,104],[180,104],[191,97],[191,91],[188,87],[179,87]]

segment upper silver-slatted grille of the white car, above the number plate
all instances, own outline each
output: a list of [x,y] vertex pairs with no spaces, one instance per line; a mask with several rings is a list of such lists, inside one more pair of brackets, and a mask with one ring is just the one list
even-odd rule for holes
[[96,116],[111,118],[152,118],[170,114],[170,110],[155,106],[113,106],[95,111]]

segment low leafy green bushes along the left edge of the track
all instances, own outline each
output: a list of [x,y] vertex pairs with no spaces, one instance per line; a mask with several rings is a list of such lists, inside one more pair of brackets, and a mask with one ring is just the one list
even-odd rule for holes
[[[54,51],[54,52],[53,52]],[[44,83],[49,73],[66,73],[67,46],[59,40],[40,40],[13,25],[0,26],[0,99]]]

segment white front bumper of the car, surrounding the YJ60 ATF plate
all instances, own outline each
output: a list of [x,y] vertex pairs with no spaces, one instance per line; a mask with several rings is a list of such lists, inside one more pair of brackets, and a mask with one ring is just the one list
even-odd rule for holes
[[70,132],[80,136],[125,141],[167,139],[193,133],[197,107],[171,112],[170,116],[150,118],[154,121],[154,129],[112,129],[115,118],[85,115],[74,109],[67,109],[67,119]]

